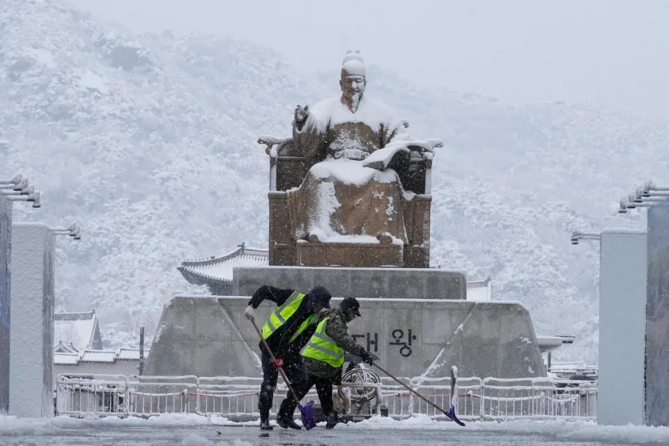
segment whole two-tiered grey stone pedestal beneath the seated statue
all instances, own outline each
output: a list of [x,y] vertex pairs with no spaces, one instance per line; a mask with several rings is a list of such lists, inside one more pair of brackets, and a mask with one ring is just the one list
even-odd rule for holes
[[[261,376],[259,339],[243,315],[263,284],[305,292],[323,285],[332,306],[360,300],[348,332],[399,376],[546,376],[528,311],[516,302],[470,302],[463,272],[406,268],[240,267],[232,296],[177,296],[165,307],[148,375]],[[257,310],[263,323],[276,306]]]

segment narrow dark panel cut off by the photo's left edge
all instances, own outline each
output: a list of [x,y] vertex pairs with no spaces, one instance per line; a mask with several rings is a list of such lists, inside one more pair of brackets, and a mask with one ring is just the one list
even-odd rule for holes
[[10,259],[12,202],[0,194],[0,412],[9,408]]

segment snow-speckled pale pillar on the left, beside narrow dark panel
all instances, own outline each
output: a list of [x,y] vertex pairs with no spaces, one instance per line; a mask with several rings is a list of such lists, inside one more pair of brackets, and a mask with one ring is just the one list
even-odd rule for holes
[[12,231],[9,413],[53,417],[55,236],[43,223]]

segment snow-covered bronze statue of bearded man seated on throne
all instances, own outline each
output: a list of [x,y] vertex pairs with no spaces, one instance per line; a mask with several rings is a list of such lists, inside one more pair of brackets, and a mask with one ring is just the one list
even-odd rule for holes
[[[341,96],[298,105],[293,138],[261,137],[271,156],[270,264],[429,267],[429,172],[440,141],[368,98],[360,52]],[[274,145],[277,145],[274,148]]]

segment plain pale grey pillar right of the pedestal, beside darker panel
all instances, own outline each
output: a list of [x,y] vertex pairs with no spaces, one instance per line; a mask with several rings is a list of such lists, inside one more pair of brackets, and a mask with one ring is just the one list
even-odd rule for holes
[[643,424],[645,231],[604,229],[599,257],[599,424]]

